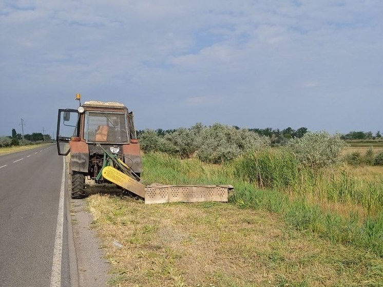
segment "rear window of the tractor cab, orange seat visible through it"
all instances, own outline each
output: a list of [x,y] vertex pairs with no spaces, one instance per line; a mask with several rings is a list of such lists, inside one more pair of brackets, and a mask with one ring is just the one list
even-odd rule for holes
[[87,142],[127,142],[126,130],[125,113],[88,111],[85,114],[84,138]]

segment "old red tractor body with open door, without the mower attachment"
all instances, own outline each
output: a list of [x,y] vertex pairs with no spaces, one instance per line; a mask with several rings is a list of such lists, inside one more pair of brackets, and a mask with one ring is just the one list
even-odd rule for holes
[[[80,95],[76,95],[80,101]],[[85,196],[85,177],[104,181],[105,155],[112,154],[140,179],[142,161],[133,113],[115,102],[85,102],[78,109],[59,109],[56,135],[59,155],[70,152],[71,196]]]

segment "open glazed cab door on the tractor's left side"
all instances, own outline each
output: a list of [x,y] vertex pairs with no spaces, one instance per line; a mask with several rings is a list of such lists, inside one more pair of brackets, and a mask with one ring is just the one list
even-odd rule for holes
[[80,136],[80,114],[75,109],[59,109],[56,144],[60,156],[69,154],[69,141]]

